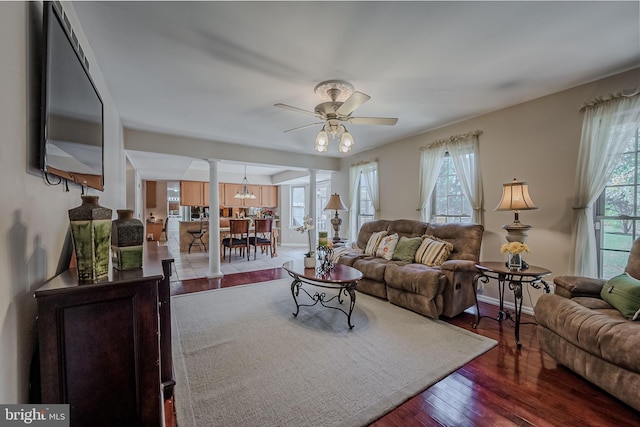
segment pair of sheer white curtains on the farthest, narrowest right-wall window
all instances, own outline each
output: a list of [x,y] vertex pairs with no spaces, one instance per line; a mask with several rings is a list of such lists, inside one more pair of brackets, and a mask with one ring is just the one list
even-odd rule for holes
[[349,169],[349,232],[350,239],[358,236],[358,201],[360,198],[360,176],[367,183],[367,192],[373,203],[374,218],[378,218],[380,210],[380,194],[378,186],[378,162],[359,163]]

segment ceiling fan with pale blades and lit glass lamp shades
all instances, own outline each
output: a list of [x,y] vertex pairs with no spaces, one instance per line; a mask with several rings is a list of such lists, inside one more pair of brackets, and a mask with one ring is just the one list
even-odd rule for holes
[[351,114],[355,109],[367,102],[371,97],[362,92],[354,92],[353,85],[349,82],[343,80],[327,80],[318,83],[314,88],[314,92],[324,101],[316,105],[314,111],[281,103],[275,104],[274,107],[303,113],[322,120],[320,122],[285,130],[285,132],[291,132],[311,126],[324,125],[316,137],[315,149],[317,151],[327,151],[329,135],[334,139],[339,139],[340,144],[338,149],[341,152],[351,150],[354,144],[353,137],[342,122],[349,122],[355,125],[387,126],[393,126],[398,122],[397,118],[391,117],[352,117]]

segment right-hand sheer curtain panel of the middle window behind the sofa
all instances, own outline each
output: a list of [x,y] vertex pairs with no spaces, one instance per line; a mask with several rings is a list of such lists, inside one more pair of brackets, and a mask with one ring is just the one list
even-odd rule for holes
[[471,221],[484,225],[484,201],[482,192],[482,175],[478,160],[478,135],[447,145],[453,166],[460,178],[460,186],[473,209]]

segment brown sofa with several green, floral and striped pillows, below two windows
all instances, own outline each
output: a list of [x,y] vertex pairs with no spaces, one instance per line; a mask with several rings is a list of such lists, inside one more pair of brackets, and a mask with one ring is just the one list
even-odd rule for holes
[[391,303],[417,313],[438,318],[453,317],[475,304],[473,277],[480,257],[484,227],[478,224],[428,224],[422,221],[376,220],[365,223],[357,246],[364,250],[371,235],[386,230],[402,237],[425,234],[453,244],[453,251],[441,266],[429,267],[406,261],[386,260],[362,253],[339,258],[341,264],[362,272],[358,291],[388,299]]

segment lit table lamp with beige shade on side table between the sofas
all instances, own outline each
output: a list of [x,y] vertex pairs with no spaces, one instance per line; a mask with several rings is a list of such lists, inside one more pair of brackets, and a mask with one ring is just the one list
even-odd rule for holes
[[502,184],[502,199],[495,211],[513,211],[513,223],[502,226],[507,230],[505,236],[507,242],[521,242],[526,243],[527,231],[531,228],[530,225],[522,224],[520,222],[520,211],[528,211],[538,209],[538,207],[531,200],[529,195],[529,186],[526,182],[513,179],[512,182]]

